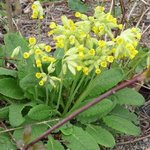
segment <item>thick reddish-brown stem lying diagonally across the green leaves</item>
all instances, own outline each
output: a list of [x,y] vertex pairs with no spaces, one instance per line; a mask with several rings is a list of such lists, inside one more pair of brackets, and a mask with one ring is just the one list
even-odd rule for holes
[[121,84],[113,87],[109,91],[107,91],[104,94],[102,94],[101,96],[95,98],[93,101],[89,102],[88,104],[86,104],[83,107],[79,108],[78,110],[74,111],[72,114],[70,114],[69,116],[67,116],[66,118],[64,118],[63,120],[61,120],[57,124],[55,124],[54,126],[52,126],[49,130],[47,130],[42,135],[37,137],[35,140],[33,140],[32,142],[27,144],[22,150],[27,150],[29,147],[33,146],[35,143],[39,142],[40,140],[42,140],[43,138],[45,138],[49,134],[51,134],[52,131],[58,129],[60,126],[64,125],[65,123],[67,123],[68,121],[70,121],[71,119],[76,117],[78,114],[84,112],[88,108],[90,108],[90,107],[96,105],[97,103],[101,102],[102,100],[104,100],[104,98],[107,98],[108,96],[116,93],[117,91],[119,91],[119,90],[121,90],[121,89],[123,89],[123,88],[125,88],[129,85],[132,85],[133,83],[135,83],[137,81],[140,81],[140,80],[142,80],[142,74],[138,74],[137,76],[133,77],[132,79],[130,79],[128,81],[124,81]]

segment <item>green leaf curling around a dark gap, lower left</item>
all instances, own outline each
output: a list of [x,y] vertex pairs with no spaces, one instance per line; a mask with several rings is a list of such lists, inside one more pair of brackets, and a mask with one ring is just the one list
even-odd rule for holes
[[[33,106],[32,103],[27,104],[12,104],[9,106],[9,122],[11,126],[16,127],[24,123],[25,118],[23,117],[22,110],[26,106]],[[24,114],[25,116],[25,114]]]

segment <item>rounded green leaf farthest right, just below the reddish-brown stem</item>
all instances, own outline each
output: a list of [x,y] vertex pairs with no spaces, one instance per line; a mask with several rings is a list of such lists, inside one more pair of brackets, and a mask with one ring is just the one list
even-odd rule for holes
[[124,88],[114,94],[119,104],[141,106],[144,104],[144,97],[131,88]]

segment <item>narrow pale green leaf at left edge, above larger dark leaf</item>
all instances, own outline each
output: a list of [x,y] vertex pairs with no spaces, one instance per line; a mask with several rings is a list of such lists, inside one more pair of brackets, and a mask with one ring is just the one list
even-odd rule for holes
[[12,76],[12,77],[17,77],[17,71],[0,67],[0,75],[7,75],[7,76]]

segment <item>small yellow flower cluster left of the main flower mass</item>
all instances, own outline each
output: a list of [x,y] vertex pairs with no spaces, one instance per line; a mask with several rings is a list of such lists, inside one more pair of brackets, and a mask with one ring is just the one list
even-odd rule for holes
[[[25,52],[23,57],[28,59],[31,55],[34,56],[35,66],[39,68],[39,72],[35,74],[35,76],[40,79],[39,85],[43,86],[45,82],[49,82],[53,87],[56,86],[55,82],[60,81],[59,78],[55,76],[51,76],[50,74],[55,71],[55,62],[56,59],[50,55],[51,46],[46,45],[44,43],[38,44],[34,37],[29,38],[29,47],[30,51]],[[43,71],[42,65],[48,64],[47,74]]]

